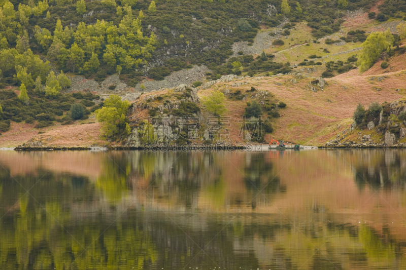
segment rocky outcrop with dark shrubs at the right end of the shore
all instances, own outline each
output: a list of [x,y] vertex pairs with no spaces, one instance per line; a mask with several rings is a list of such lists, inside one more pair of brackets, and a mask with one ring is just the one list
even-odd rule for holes
[[377,148],[406,147],[406,99],[385,102],[375,114],[366,110],[361,124],[354,121],[337,137],[326,143],[327,147]]

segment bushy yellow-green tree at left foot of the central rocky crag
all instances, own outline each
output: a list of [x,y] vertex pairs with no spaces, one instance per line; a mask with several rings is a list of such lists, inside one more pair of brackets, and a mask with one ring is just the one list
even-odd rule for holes
[[116,95],[111,95],[105,100],[103,108],[95,111],[98,122],[104,124],[105,136],[114,137],[117,135],[128,135],[131,132],[125,115],[130,103]]

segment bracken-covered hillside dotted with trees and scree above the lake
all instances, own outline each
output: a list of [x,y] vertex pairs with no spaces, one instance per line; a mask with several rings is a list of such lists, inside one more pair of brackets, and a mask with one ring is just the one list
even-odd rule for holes
[[[28,21],[22,15],[10,15],[10,2],[0,3],[3,14],[8,11],[6,17],[10,17],[0,29],[0,40],[3,38],[9,46],[0,50],[0,88],[4,88],[0,92],[7,97],[0,101],[2,147],[24,143],[35,147],[139,146],[140,132],[148,128],[143,126],[143,120],[159,115],[171,119],[166,124],[172,132],[186,132],[187,125],[179,126],[176,118],[199,121],[193,138],[177,141],[165,135],[161,142],[215,143],[222,140],[209,138],[208,117],[212,114],[201,98],[217,91],[225,96],[228,111],[223,116],[230,117],[228,143],[266,143],[273,138],[320,146],[348,129],[358,103],[390,103],[406,91],[406,56],[396,28],[404,14],[402,3],[353,1],[343,8],[336,3],[316,6],[299,1],[297,6],[289,2],[291,12],[283,16],[281,4],[272,1],[243,2],[239,7],[234,1],[157,2],[156,11],[148,11],[150,3],[142,1],[126,7],[125,1],[113,1],[115,6],[107,1],[84,2],[83,14],[78,13],[77,3],[62,2],[50,1],[38,16],[33,11],[45,2],[20,8],[11,2],[15,11],[22,10],[18,14],[25,13]],[[363,9],[359,9],[361,6]],[[301,12],[297,7],[301,7]],[[225,15],[225,10],[229,14]],[[56,17],[46,18],[47,12]],[[243,13],[245,21],[239,19]],[[85,24],[75,24],[81,20]],[[125,57],[131,56],[136,47],[109,41],[107,34],[121,31],[117,26],[126,24],[123,38],[130,38],[131,31],[137,32],[143,40],[136,47],[144,50],[144,56],[132,58],[127,68]],[[8,30],[11,25],[21,26],[14,40]],[[356,63],[362,42],[370,32],[387,28],[394,36],[393,50],[383,57],[389,67],[382,68],[384,60],[378,60],[360,74]],[[104,41],[97,40],[96,33],[100,38],[106,35]],[[111,58],[114,68],[108,61],[112,52],[109,48],[113,48],[109,43],[114,44],[115,50],[124,50],[124,58]],[[83,51],[79,62],[71,59],[73,48],[79,55]],[[56,49],[60,50],[59,56],[52,51]],[[33,64],[29,65],[25,58]],[[6,65],[5,59],[10,64]],[[50,88],[52,78],[48,77],[52,72],[53,80],[62,82],[59,76],[62,80],[65,75],[61,69],[70,86]],[[29,101],[17,97],[23,83]],[[111,94],[132,103],[126,115],[132,128],[128,137],[103,137],[103,124],[95,123],[94,111],[103,107]],[[240,132],[247,102],[253,101],[259,103],[265,121],[259,139],[255,140]],[[85,108],[83,118],[71,118],[70,108],[76,103]],[[258,118],[252,120],[259,123]],[[152,124],[154,128],[159,126],[155,120]]]

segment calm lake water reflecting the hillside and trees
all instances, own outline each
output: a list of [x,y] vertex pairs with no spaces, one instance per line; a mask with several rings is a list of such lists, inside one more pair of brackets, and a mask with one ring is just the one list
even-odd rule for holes
[[0,269],[406,269],[406,151],[0,151]]

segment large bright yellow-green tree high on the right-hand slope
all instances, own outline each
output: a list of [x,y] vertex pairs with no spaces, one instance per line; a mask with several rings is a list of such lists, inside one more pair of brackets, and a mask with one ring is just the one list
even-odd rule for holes
[[362,44],[362,52],[359,57],[359,70],[368,70],[381,57],[381,54],[390,49],[394,42],[394,37],[390,30],[385,32],[372,32]]

